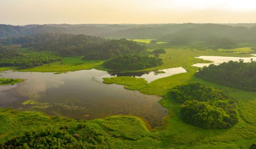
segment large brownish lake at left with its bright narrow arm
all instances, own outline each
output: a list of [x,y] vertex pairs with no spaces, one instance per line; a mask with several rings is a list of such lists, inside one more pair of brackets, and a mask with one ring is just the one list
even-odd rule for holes
[[[183,68],[163,70],[166,73],[142,72],[135,75],[148,82],[172,74],[186,72]],[[100,70],[82,70],[65,74],[42,72],[0,72],[1,77],[26,79],[15,85],[0,86],[0,107],[39,110],[49,115],[64,115],[75,119],[93,119],[110,115],[134,115],[145,118],[151,126],[160,126],[167,109],[158,101],[161,97],[144,95],[124,86],[102,83],[103,77],[113,77]],[[130,76],[129,73],[122,75]],[[24,101],[33,100],[33,104]]]

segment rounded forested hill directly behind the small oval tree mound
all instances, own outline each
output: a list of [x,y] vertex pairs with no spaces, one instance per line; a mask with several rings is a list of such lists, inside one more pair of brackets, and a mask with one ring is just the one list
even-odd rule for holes
[[141,54],[145,51],[146,47],[138,45],[135,41],[126,39],[109,40],[93,46],[85,54],[83,60],[108,60],[122,54]]

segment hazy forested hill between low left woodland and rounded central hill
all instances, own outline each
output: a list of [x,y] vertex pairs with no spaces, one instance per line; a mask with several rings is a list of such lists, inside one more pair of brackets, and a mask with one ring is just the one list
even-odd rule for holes
[[35,34],[30,37],[19,37],[13,43],[22,44],[23,47],[37,49],[39,51],[57,52],[63,57],[81,56],[93,51],[95,45],[106,40],[100,37],[83,34]]

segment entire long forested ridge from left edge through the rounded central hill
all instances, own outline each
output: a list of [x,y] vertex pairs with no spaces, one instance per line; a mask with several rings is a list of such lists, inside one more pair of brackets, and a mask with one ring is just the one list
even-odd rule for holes
[[108,60],[121,54],[137,54],[146,50],[134,41],[105,40],[84,34],[42,33],[25,37],[6,37],[3,44],[21,44],[23,48],[58,53],[61,57],[84,56],[84,60]]

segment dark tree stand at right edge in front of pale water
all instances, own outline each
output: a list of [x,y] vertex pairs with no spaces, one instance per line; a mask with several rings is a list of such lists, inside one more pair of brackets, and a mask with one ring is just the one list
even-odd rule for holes
[[256,92],[256,61],[251,63],[229,61],[220,65],[209,65],[195,73],[204,80],[237,89]]

